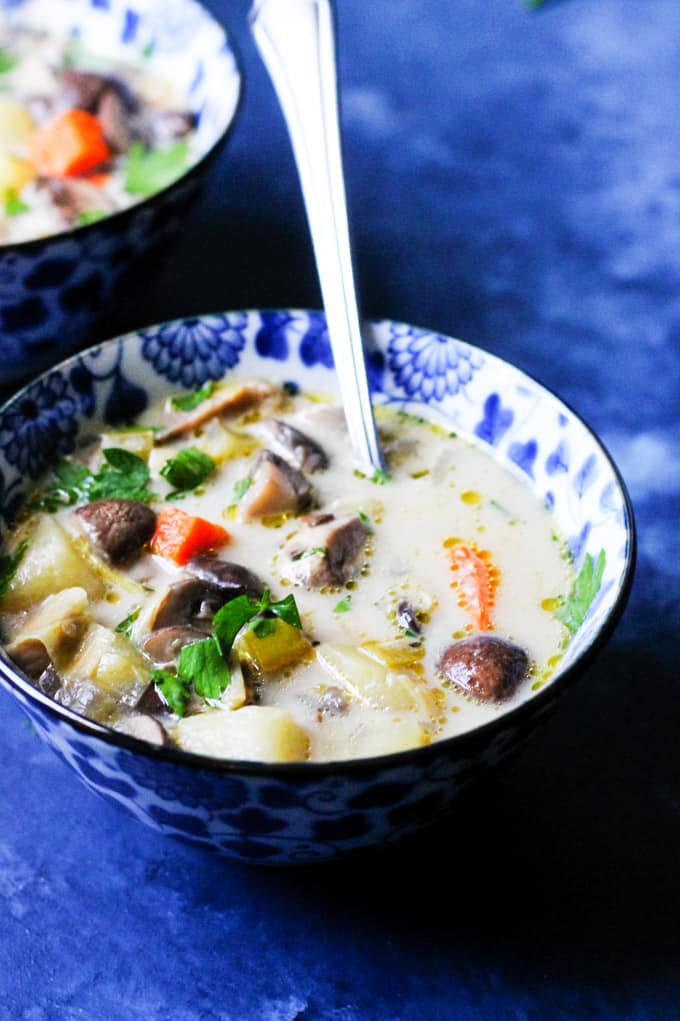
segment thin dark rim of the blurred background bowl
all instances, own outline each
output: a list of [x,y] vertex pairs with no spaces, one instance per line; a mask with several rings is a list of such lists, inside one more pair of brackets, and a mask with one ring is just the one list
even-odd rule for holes
[[[130,218],[142,209],[149,208],[155,201],[160,199],[162,196],[167,195],[173,189],[177,188],[185,181],[193,180],[194,177],[202,173],[203,169],[206,169],[212,162],[232,134],[234,125],[236,124],[241,112],[241,107],[243,106],[243,59],[234,45],[232,34],[227,30],[227,27],[223,25],[217,17],[215,17],[212,11],[206,7],[202,0],[192,0],[192,2],[195,3],[197,7],[200,7],[208,20],[210,20],[222,33],[223,47],[226,47],[233,57],[234,68],[237,77],[237,93],[234,110],[229,118],[229,121],[225,125],[214,142],[208,149],[205,150],[202,156],[183,171],[179,178],[176,178],[175,181],[171,181],[168,185],[164,185],[164,187],[153,192],[151,195],[145,196],[139,202],[133,202],[132,205],[126,206],[125,209],[114,209],[113,212],[108,213],[106,216],[102,216],[101,220],[97,220],[92,224],[83,224],[80,227],[71,227],[63,231],[55,231],[52,234],[43,234],[38,238],[27,238],[25,241],[10,241],[7,244],[2,244],[0,242],[0,259],[7,254],[13,254],[14,252],[19,255],[30,253],[31,249],[34,247],[45,247],[51,244],[62,243],[69,238],[78,238],[80,241],[82,238],[89,236],[91,233],[96,233],[98,230],[101,231],[102,229],[105,229],[108,225],[112,225],[114,229],[118,226],[125,226]],[[104,341],[104,343],[106,343],[106,341]],[[54,366],[53,368],[57,367]]]

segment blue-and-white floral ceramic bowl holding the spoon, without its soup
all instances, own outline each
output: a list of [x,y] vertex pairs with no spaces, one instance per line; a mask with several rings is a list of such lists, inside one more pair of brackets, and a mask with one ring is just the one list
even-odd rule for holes
[[[154,747],[92,723],[42,694],[3,655],[0,683],[91,790],[163,833],[268,864],[330,858],[411,833],[499,762],[553,709],[611,633],[633,574],[634,526],[622,480],[580,419],[512,366],[476,347],[398,323],[367,328],[375,399],[480,444],[553,507],[577,566],[606,554],[602,584],[560,673],[519,708],[460,736],[342,763],[220,762]],[[0,411],[0,515],[11,521],[51,458],[80,433],[239,370],[336,390],[319,312],[247,311],[152,327],[44,375]]]

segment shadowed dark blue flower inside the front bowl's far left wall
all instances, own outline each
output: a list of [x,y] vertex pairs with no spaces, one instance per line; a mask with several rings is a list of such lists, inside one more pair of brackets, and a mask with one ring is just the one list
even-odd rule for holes
[[0,449],[10,465],[37,479],[56,454],[75,447],[78,400],[61,373],[38,380],[0,420]]

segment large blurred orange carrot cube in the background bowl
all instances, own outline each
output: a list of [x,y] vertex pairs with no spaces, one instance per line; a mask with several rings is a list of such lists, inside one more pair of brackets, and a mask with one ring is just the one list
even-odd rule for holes
[[110,158],[99,121],[87,110],[66,110],[31,140],[31,159],[45,178],[87,174]]

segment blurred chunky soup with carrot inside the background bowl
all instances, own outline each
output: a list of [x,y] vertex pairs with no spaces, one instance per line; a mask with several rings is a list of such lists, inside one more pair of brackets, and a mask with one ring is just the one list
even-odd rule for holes
[[0,244],[94,223],[190,165],[194,115],[151,57],[0,22]]

